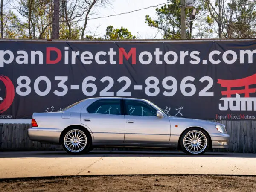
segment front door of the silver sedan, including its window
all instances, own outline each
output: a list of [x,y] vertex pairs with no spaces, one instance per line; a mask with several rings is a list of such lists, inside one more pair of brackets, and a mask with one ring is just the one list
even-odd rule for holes
[[146,102],[125,100],[125,143],[168,144],[171,126],[168,117],[158,118]]

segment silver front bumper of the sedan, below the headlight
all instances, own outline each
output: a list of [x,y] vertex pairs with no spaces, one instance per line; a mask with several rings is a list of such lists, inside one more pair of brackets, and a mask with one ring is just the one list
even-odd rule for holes
[[212,148],[228,148],[230,136],[228,134],[211,135]]

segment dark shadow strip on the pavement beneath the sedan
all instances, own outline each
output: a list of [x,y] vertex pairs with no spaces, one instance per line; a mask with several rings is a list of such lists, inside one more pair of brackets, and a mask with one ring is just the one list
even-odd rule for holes
[[208,152],[202,155],[188,155],[179,151],[91,151],[84,155],[70,155],[65,151],[19,151],[0,152],[0,158],[86,158],[86,157],[232,157],[256,158],[256,154]]

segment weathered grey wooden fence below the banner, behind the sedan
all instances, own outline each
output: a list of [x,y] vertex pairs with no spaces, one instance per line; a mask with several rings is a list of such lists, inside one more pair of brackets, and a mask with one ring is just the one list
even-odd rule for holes
[[[230,135],[229,152],[256,153],[256,121],[216,121],[226,125]],[[30,124],[0,124],[0,150],[60,150],[61,145],[31,141]],[[113,149],[112,149],[113,150]]]

